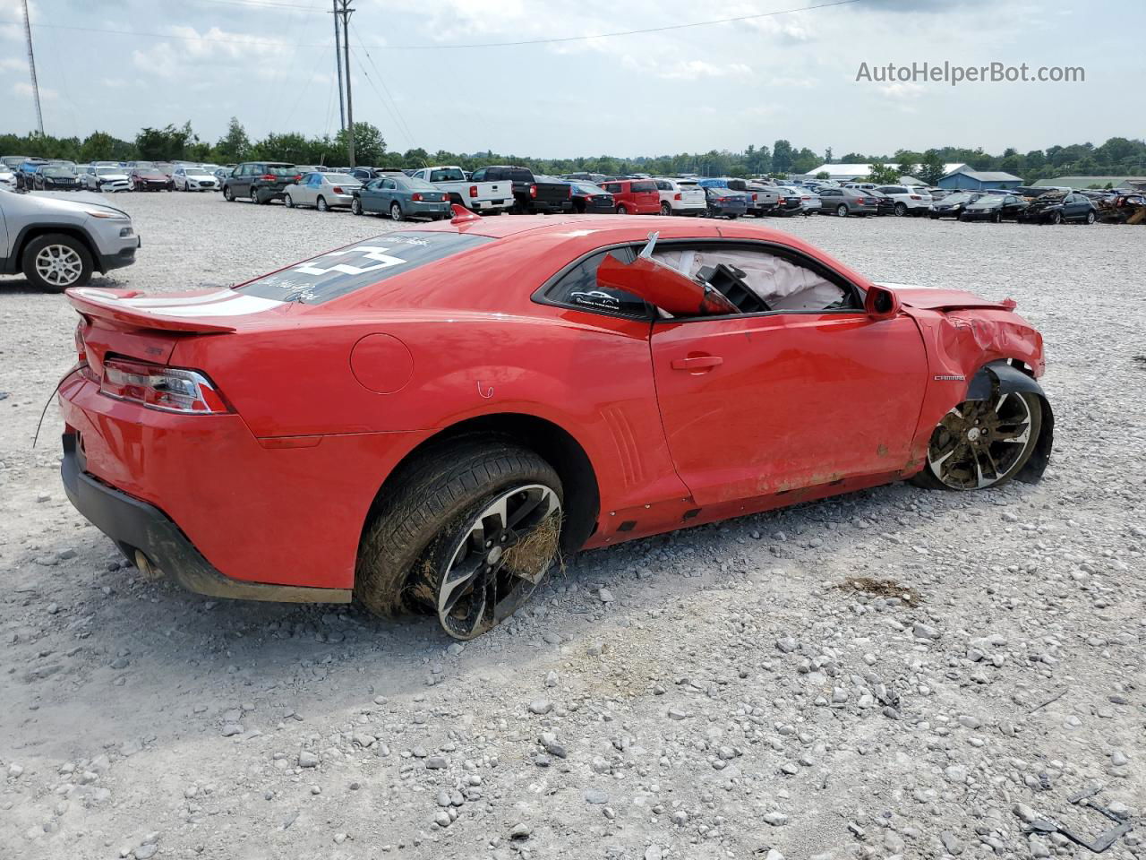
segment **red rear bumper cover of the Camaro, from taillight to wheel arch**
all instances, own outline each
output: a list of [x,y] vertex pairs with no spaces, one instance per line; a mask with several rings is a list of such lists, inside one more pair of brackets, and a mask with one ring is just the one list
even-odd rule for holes
[[[79,476],[72,501],[80,513],[180,581],[185,564],[193,571],[205,565],[236,584],[228,586],[235,596],[266,594],[267,600],[295,597],[273,596],[291,592],[268,592],[264,585],[307,589],[299,592],[307,595],[299,600],[342,600],[337,593],[354,586],[359,541],[378,487],[432,435],[260,439],[237,414],[148,409],[101,394],[99,384],[80,373],[61,383],[58,402],[76,443],[74,466],[69,468]],[[70,478],[64,477],[66,485]],[[125,518],[101,513],[93,498],[104,499],[103,506],[112,499],[116,509],[124,508],[118,502],[126,499],[134,502],[129,507],[135,519],[143,511],[155,523],[158,511],[158,522],[167,525],[135,525],[127,532]],[[172,529],[182,542],[149,537]],[[202,577],[195,581],[202,583]],[[244,591],[251,586],[253,591]]]

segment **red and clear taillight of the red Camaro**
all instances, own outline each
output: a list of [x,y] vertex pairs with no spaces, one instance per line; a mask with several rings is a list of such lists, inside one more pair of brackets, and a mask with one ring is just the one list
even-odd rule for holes
[[100,393],[160,412],[214,415],[231,411],[197,370],[129,359],[104,360]]

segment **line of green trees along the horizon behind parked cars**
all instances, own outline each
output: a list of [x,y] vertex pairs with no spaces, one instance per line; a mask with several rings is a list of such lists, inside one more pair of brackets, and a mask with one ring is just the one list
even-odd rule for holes
[[[236,117],[227,133],[218,141],[201,139],[190,123],[163,128],[141,128],[134,140],[126,141],[107,132],[93,132],[79,138],[53,138],[39,134],[0,134],[0,155],[28,155],[44,158],[68,158],[76,162],[92,161],[191,161],[231,164],[241,161],[283,161],[295,164],[342,166],[347,162],[347,133],[307,136],[297,132],[272,133],[261,140],[251,140]],[[641,156],[583,156],[579,158],[534,158],[513,154],[449,153],[408,149],[405,153],[386,149],[386,141],[377,126],[354,124],[354,151],[358,164],[387,167],[423,167],[429,164],[457,164],[476,170],[486,164],[523,164],[539,173],[699,173],[709,177],[747,177],[787,173],[809,173],[825,162],[837,164],[873,163],[873,175],[881,181],[895,181],[900,174],[913,174],[934,183],[943,173],[943,164],[960,162],[974,170],[1005,171],[1020,177],[1026,183],[1055,175],[1146,175],[1146,141],[1141,139],[1110,138],[1100,146],[1072,143],[1026,154],[1014,148],[1000,155],[982,148],[940,147],[925,151],[897,149],[892,154],[847,153],[833,158],[832,149],[816,153],[807,147],[796,148],[788,140],[776,140],[769,146],[748,144],[743,151],[713,149],[707,153]]]

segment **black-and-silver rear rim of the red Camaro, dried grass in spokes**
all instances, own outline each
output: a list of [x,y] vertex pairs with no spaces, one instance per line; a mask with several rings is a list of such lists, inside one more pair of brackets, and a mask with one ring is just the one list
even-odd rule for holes
[[562,505],[543,484],[502,493],[461,532],[439,577],[442,630],[473,639],[517,611],[552,564]]

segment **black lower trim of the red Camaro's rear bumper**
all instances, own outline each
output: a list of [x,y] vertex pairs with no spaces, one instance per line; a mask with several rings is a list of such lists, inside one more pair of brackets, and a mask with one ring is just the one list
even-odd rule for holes
[[68,500],[96,529],[107,534],[133,563],[142,553],[149,564],[189,592],[212,597],[270,600],[290,603],[350,603],[350,588],[244,583],[215,570],[166,514],[127,493],[103,484],[84,471],[84,453],[77,435],[63,436],[64,459],[60,474]]

